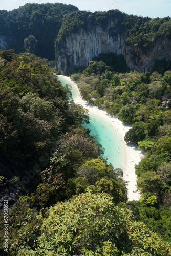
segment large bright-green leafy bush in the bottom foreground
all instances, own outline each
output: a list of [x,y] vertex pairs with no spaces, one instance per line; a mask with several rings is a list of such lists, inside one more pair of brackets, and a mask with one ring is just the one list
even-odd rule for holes
[[38,216],[41,235],[36,254],[167,255],[169,244],[131,217],[108,194],[78,195],[51,207],[47,218]]

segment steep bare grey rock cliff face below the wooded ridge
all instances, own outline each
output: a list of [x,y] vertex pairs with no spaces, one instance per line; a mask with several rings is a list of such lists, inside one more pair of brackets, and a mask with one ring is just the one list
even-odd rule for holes
[[170,40],[159,38],[151,48],[143,51],[137,45],[127,45],[126,31],[120,31],[118,26],[116,19],[110,19],[105,28],[89,26],[64,36],[56,46],[57,70],[66,74],[75,66],[88,66],[88,62],[102,52],[123,54],[130,70],[138,72],[151,71],[157,59],[171,59]]

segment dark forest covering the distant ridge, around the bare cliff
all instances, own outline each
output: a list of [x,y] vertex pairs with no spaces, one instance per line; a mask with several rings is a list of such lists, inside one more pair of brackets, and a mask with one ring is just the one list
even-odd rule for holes
[[[127,15],[117,9],[92,13],[62,3],[27,3],[12,11],[1,10],[0,36],[6,37],[9,49],[15,49],[17,54],[28,51],[51,61],[55,60],[55,44],[58,45],[62,37],[81,27],[105,28],[113,17],[117,22],[115,33],[125,33],[126,44],[139,46],[144,51],[158,38],[171,38],[170,17],[151,19]],[[169,64],[162,62],[167,69]]]

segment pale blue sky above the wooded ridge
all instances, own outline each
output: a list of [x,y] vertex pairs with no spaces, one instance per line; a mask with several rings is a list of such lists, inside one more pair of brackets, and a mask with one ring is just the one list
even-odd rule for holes
[[81,11],[108,11],[118,9],[127,14],[150,18],[163,18],[171,16],[171,1],[170,0],[0,0],[0,10],[11,11],[19,8],[26,3],[63,3],[72,4],[78,7]]

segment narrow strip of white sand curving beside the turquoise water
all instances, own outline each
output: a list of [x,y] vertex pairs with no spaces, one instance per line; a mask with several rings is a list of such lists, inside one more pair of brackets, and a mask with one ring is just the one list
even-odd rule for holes
[[88,103],[82,99],[80,92],[78,90],[76,82],[72,81],[70,77],[59,75],[58,77],[61,77],[65,79],[66,81],[69,81],[73,84],[73,86],[77,90],[76,98],[74,99],[74,102],[76,104],[80,104],[83,106],[83,108],[88,109],[90,113],[98,115],[99,117],[103,118],[106,122],[108,122],[109,125],[111,125],[115,130],[117,130],[118,136],[120,137],[122,143],[124,144],[125,149],[125,159],[124,159],[124,166],[123,166],[123,179],[125,181],[129,181],[127,189],[128,189],[128,199],[131,200],[138,200],[140,197],[140,194],[138,192],[135,192],[137,190],[136,188],[136,174],[135,174],[135,164],[138,164],[141,160],[141,157],[144,156],[144,153],[141,150],[138,150],[137,145],[130,143],[126,144],[124,141],[124,136],[127,131],[130,129],[130,125],[124,125],[118,118],[112,117],[109,115],[106,111],[98,109],[97,106],[90,106]]

